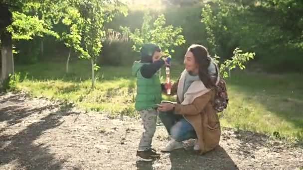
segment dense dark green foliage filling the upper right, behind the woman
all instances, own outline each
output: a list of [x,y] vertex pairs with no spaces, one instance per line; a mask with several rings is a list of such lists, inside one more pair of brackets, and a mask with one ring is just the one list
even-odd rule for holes
[[236,47],[254,51],[255,63],[267,71],[302,71],[298,63],[303,62],[299,16],[303,8],[302,2],[291,2],[294,0],[219,0],[206,4],[201,21],[206,27],[207,47],[223,58],[232,56]]

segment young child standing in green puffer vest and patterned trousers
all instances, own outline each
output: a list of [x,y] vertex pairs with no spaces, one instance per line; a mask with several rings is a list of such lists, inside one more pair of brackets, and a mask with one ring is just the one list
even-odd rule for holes
[[159,157],[151,148],[158,115],[156,107],[162,99],[158,70],[168,64],[166,59],[161,59],[161,49],[155,44],[144,44],[140,51],[141,60],[135,61],[132,67],[133,76],[137,78],[135,108],[140,112],[144,126],[137,158],[139,161],[151,162],[153,158]]

